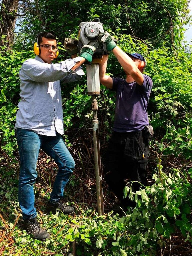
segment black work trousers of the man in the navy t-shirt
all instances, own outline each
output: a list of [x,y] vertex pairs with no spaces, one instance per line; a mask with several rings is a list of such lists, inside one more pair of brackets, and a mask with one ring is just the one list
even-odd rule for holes
[[[123,198],[123,189],[127,184],[125,179],[147,185],[149,141],[145,132],[113,132],[105,154],[104,179],[124,205],[130,201]],[[139,190],[141,185],[138,182],[133,183],[132,190]]]

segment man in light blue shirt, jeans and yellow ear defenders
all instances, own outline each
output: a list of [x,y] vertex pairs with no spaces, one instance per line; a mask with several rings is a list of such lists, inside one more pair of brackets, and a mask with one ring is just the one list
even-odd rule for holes
[[83,46],[79,57],[76,55],[76,47],[72,59],[52,64],[58,56],[55,36],[42,32],[37,38],[38,42],[34,45],[37,56],[26,60],[19,71],[21,100],[15,129],[20,156],[18,199],[24,228],[34,238],[44,241],[49,233],[37,221],[33,189],[37,178],[39,150],[42,149],[53,158],[58,166],[46,207],[47,213],[55,214],[59,209],[64,214],[73,214],[75,207],[66,205],[63,201],[64,188],[74,170],[75,162],[61,137],[64,133],[61,86],[81,79],[84,75],[81,64],[92,61],[95,47]]

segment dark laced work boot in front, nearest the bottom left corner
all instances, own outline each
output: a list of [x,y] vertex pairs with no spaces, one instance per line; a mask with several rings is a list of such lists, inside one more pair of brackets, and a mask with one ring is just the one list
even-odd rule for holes
[[40,226],[37,218],[24,220],[23,227],[34,239],[45,241],[50,236],[50,234]]

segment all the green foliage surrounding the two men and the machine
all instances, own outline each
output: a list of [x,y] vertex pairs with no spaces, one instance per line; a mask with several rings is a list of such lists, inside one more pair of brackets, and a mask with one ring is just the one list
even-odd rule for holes
[[[152,256],[163,250],[175,233],[191,244],[192,56],[182,45],[182,27],[189,19],[187,1],[26,2],[28,13],[20,24],[21,32],[13,49],[0,49],[0,254],[2,251],[3,255],[67,255],[75,240],[76,255]],[[79,23],[95,17],[101,19],[104,29],[119,38],[118,45],[124,51],[139,52],[147,59],[145,74],[153,80],[148,111],[155,131],[149,157],[151,186],[134,194],[128,184],[125,195],[135,200],[137,206],[128,209],[121,218],[112,212],[98,216],[95,203],[88,204],[86,200],[82,203],[80,197],[75,197],[84,189],[87,189],[84,194],[95,194],[95,186],[90,185],[95,184],[91,179],[91,175],[94,176],[94,172],[91,173],[94,165],[91,97],[86,93],[86,77],[63,86],[65,138],[76,156],[76,171],[67,191],[72,201],[75,198],[78,213],[74,217],[43,215],[46,193],[50,191],[56,167],[46,159],[46,171],[42,172],[43,165],[38,164],[41,176],[35,186],[36,203],[41,209],[38,214],[52,234],[48,241],[41,243],[23,232],[19,224],[15,226],[20,213],[19,161],[14,135],[20,91],[18,73],[24,60],[34,57],[32,45],[38,32],[47,29],[58,36],[59,61],[67,57],[62,47],[63,38],[76,36]],[[107,72],[114,77],[125,77],[112,53]],[[97,99],[102,156],[113,125],[115,94],[101,86]],[[85,144],[84,151],[81,144]],[[89,165],[85,163],[87,159]],[[92,183],[87,182],[83,187],[90,179]],[[110,196],[108,192],[105,195]]]

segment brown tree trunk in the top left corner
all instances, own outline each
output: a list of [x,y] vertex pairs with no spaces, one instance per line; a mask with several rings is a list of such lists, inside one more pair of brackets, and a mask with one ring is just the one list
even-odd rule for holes
[[0,9],[0,46],[9,50],[13,45],[16,13],[19,0],[2,0]]

